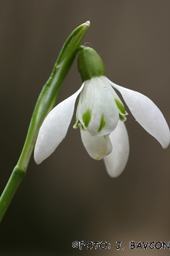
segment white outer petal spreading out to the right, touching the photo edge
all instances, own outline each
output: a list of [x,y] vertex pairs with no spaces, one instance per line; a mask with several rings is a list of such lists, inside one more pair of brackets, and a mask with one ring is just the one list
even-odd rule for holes
[[109,82],[115,89],[120,91],[136,121],[157,139],[163,148],[167,148],[170,142],[169,127],[163,113],[156,104],[137,91],[126,89],[112,83],[112,81]]

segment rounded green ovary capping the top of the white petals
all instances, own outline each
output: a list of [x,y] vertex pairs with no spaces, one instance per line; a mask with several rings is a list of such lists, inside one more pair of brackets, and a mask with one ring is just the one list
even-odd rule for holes
[[90,47],[84,47],[78,55],[78,71],[83,82],[95,76],[105,76],[105,66],[101,57]]

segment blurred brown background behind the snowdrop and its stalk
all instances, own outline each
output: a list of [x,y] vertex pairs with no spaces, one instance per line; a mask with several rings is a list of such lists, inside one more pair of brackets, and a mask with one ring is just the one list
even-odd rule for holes
[[[31,114],[68,35],[90,20],[82,44],[101,55],[107,76],[140,91],[170,125],[169,0],[0,1],[0,192],[16,165]],[[81,85],[77,63],[58,102]],[[170,147],[163,150],[131,116],[131,152],[116,179],[95,161],[71,128],[57,150],[37,166],[31,158],[0,228],[0,255],[169,255],[130,241],[170,241]],[[73,241],[106,241],[111,248],[72,248]],[[122,241],[119,251],[116,241]],[[122,250],[124,248],[124,250]]]

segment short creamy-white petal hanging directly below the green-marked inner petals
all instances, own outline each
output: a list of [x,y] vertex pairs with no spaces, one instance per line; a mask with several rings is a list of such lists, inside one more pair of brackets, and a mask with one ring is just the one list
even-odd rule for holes
[[101,160],[103,156],[107,156],[107,154],[112,152],[112,143],[109,139],[109,135],[101,137],[91,136],[82,126],[80,126],[80,133],[84,147],[88,154],[95,160]]

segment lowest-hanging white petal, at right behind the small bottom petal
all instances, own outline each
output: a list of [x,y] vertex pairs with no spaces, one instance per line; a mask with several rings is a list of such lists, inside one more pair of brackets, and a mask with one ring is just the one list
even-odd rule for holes
[[124,122],[119,121],[116,129],[109,135],[112,153],[103,158],[110,177],[118,177],[129,158],[129,137]]

